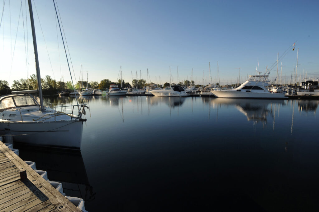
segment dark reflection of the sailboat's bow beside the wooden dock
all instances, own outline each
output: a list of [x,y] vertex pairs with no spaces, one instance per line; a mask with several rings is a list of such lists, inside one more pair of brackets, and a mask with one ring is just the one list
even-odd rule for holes
[[20,158],[35,162],[38,170],[47,171],[49,180],[61,182],[66,195],[84,201],[94,200],[95,193],[88,180],[81,152],[53,151],[26,145],[15,148],[19,148]]

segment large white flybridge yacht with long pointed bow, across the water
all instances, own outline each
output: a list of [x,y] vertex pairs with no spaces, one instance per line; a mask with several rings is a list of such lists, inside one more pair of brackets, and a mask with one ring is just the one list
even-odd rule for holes
[[222,98],[261,98],[261,99],[283,99],[283,93],[271,93],[266,86],[269,86],[269,75],[249,75],[246,82],[241,84],[238,88],[230,90],[211,91],[217,97]]

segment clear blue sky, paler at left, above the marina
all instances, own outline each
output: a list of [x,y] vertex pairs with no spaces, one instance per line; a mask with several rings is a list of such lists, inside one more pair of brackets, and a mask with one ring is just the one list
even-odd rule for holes
[[[50,75],[59,81],[63,75],[64,81],[70,81],[62,41],[59,39],[57,42],[53,2],[34,0],[34,3],[41,77]],[[3,0],[0,5],[2,9]],[[157,83],[159,76],[162,84],[169,82],[169,67],[177,82],[178,66],[180,81],[190,80],[193,68],[193,80],[203,84],[204,71],[204,82],[208,84],[209,62],[212,80],[216,82],[219,61],[222,84],[237,82],[239,67],[243,82],[248,74],[255,74],[257,61],[259,70],[264,72],[266,66],[271,67],[277,60],[277,53],[280,57],[295,41],[295,50],[290,50],[280,61],[283,63],[282,77],[286,76],[286,81],[288,78],[290,81],[296,67],[297,48],[298,78],[300,74],[302,78],[303,73],[304,76],[307,73],[307,76],[319,77],[317,1],[58,0],[57,5],[77,77],[75,81],[78,80],[82,63],[84,78],[86,80],[88,71],[89,81],[116,81],[122,66],[122,77],[126,82],[131,82],[131,71],[135,78],[136,71],[140,75],[141,70],[142,78],[146,79],[147,68],[153,82],[155,76]],[[19,1],[7,0],[0,28],[1,79],[10,84],[13,80],[26,79],[26,60],[28,75],[35,73],[29,15],[27,26],[24,21],[25,32],[26,28],[28,30],[28,58],[22,14],[14,49],[19,9]],[[25,0],[22,11],[26,19]],[[270,75],[274,79],[276,67]]]

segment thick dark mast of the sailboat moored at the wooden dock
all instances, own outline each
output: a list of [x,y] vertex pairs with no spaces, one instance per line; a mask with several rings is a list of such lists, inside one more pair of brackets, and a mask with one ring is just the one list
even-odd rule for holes
[[33,48],[34,48],[34,57],[35,57],[35,69],[37,73],[38,80],[38,90],[39,90],[39,98],[40,98],[40,110],[45,111],[43,106],[43,95],[42,95],[42,85],[41,85],[41,75],[40,75],[40,67],[39,67],[39,58],[38,58],[38,48],[37,48],[37,40],[35,38],[35,30],[34,30],[34,21],[33,21],[33,11],[31,0],[28,0],[29,4],[29,12],[30,12],[30,21],[31,21],[31,29],[32,29],[32,38],[33,38]]

